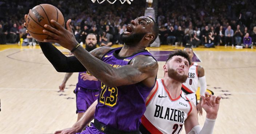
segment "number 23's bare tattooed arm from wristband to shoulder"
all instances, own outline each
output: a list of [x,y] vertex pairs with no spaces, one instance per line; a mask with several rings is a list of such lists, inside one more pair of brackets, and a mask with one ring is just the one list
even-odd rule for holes
[[[109,87],[135,84],[144,81],[144,84],[152,87],[155,80],[158,64],[151,56],[136,56],[130,65],[113,68],[97,58],[91,57],[82,47],[77,48],[74,55],[87,68],[93,76]],[[87,64],[90,63],[90,64]],[[111,79],[111,81],[109,81]]]

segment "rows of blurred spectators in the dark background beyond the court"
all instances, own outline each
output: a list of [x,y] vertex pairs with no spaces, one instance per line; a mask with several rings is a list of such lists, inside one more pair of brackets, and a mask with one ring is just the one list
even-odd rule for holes
[[[144,16],[145,0],[134,0],[131,5],[92,3],[91,1],[14,1],[0,2],[0,44],[17,43],[25,33],[24,15],[41,3],[51,3],[72,19],[77,41],[87,34],[97,35],[98,44],[123,44],[120,34],[126,25],[138,16]],[[156,22],[159,25],[161,45],[183,44],[192,47],[204,45],[244,45],[256,42],[256,3],[253,0],[158,0]],[[249,44],[248,44],[249,43]]]

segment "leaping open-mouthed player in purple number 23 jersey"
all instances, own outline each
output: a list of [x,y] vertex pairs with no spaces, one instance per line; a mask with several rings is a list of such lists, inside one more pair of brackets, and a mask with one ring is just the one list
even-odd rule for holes
[[[138,17],[131,21],[121,37],[125,43],[123,47],[101,47],[90,53],[76,41],[70,22],[67,21],[68,30],[53,20],[51,24],[56,29],[45,25],[44,34],[53,39],[39,43],[43,53],[58,72],[87,69],[102,83],[96,109],[91,106],[73,127],[55,133],[81,132],[95,112],[94,123],[81,134],[139,134],[145,98],[155,85],[158,70],[157,61],[145,50],[158,36],[155,21],[150,17]],[[46,42],[59,43],[71,50],[75,57],[66,57]]]

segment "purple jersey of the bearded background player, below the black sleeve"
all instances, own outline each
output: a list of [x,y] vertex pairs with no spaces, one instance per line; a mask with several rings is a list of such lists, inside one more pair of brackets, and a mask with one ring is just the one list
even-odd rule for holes
[[92,90],[99,90],[100,89],[100,82],[99,81],[89,81],[89,80],[83,80],[81,79],[81,73],[87,73],[89,75],[92,76],[91,73],[89,73],[88,71],[86,72],[79,72],[78,74],[78,83],[77,83],[77,86],[80,86],[82,88],[85,88],[85,89],[92,89]]

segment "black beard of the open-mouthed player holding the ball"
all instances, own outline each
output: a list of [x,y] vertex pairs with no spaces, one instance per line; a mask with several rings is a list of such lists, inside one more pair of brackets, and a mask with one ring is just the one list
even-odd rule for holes
[[137,45],[147,33],[133,33],[130,35],[121,34],[120,39],[129,46]]

